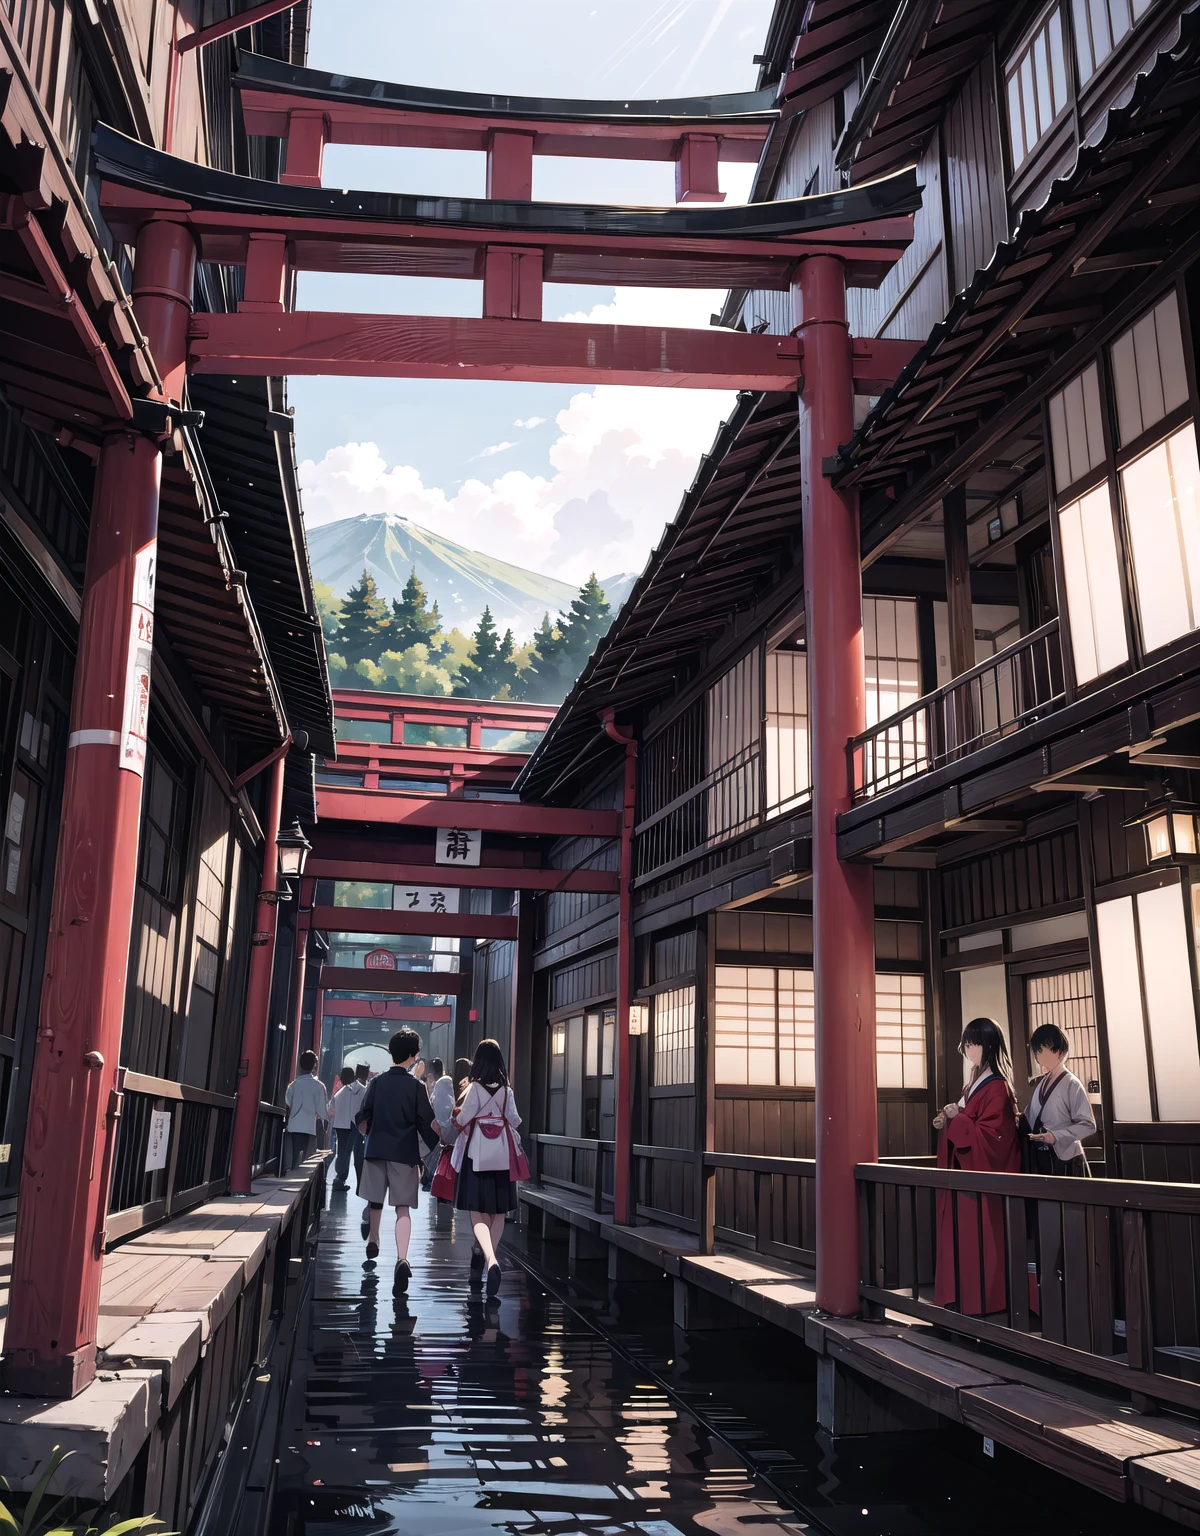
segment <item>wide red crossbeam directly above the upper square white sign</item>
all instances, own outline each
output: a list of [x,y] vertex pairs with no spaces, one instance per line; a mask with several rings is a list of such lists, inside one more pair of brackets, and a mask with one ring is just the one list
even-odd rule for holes
[[332,822],[381,822],[392,826],[458,826],[464,831],[529,837],[616,837],[616,811],[575,811],[504,800],[424,799],[387,790],[335,790],[317,785],[317,816]]

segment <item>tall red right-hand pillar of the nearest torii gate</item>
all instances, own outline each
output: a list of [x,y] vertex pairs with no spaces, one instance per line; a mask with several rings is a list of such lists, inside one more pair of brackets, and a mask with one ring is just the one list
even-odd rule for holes
[[857,498],[834,490],[825,459],[854,429],[845,269],[801,263],[796,333],[804,343],[801,476],[813,770],[813,969],[816,972],[817,1306],[859,1310],[854,1164],[879,1154],[874,1063],[874,895],[867,865],[837,859],[850,806],[847,742],[867,725]]

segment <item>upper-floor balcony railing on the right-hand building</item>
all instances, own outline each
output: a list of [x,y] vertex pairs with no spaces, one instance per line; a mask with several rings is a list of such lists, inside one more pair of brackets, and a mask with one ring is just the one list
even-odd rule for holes
[[847,746],[856,802],[1011,736],[1065,700],[1059,621],[1023,634]]

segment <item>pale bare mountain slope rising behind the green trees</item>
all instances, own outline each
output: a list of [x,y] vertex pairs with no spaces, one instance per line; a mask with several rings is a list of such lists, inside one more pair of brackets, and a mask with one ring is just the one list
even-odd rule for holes
[[[544,613],[553,617],[576,593],[569,582],[467,550],[395,513],[326,522],[309,528],[307,538],[313,576],[338,598],[369,570],[380,596],[390,602],[399,598],[415,568],[429,601],[436,599],[447,630],[453,625],[473,628],[484,607],[490,607],[501,631],[512,627],[518,637],[527,637]],[[622,574],[601,582],[612,613],[621,607],[633,581]]]

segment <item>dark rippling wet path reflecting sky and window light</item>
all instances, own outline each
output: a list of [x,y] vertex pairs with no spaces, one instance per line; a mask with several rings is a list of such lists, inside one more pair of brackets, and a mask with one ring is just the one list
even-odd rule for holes
[[486,1304],[466,1218],[424,1197],[393,1298],[392,1223],[364,1264],[361,1209],[330,1190],[321,1218],[269,1536],[999,1536],[1029,1501],[1056,1536],[1177,1530],[957,1430],[834,1447],[799,1341],[685,1335],[665,1283],[569,1272],[562,1244],[512,1233]]

